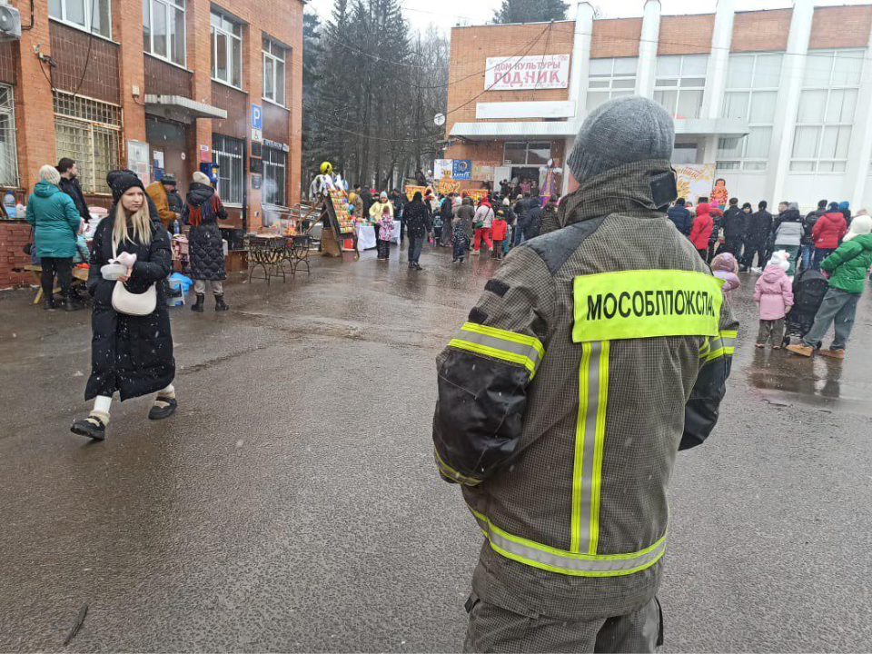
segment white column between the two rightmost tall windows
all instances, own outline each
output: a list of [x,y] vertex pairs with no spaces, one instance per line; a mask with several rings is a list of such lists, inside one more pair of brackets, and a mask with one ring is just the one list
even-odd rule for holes
[[793,17],[790,19],[787,54],[781,66],[778,106],[775,111],[766,173],[766,191],[771,199],[771,206],[782,200],[791,201],[791,198],[782,195],[790,170],[793,134],[797,127],[799,95],[802,92],[802,77],[806,71],[808,39],[811,36],[811,21],[814,14],[814,0],[795,0]]

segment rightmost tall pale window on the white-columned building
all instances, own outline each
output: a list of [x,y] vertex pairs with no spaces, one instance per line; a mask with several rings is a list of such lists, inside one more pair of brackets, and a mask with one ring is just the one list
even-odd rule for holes
[[845,172],[864,52],[808,51],[793,136],[792,172]]

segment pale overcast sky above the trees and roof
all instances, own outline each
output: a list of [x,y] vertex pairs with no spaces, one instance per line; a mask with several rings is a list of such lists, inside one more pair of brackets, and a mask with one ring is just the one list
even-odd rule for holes
[[[869,0],[817,0],[817,6],[866,5]],[[401,0],[403,13],[414,27],[438,25],[448,32],[453,25],[481,25],[490,21],[501,0]],[[574,4],[574,3],[572,3]],[[606,18],[642,15],[645,0],[594,0]],[[715,11],[717,0],[661,0],[664,14],[703,14]],[[331,15],[333,0],[310,0],[307,11],[327,18]],[[738,11],[748,9],[776,9],[790,7],[790,0],[737,0]]]

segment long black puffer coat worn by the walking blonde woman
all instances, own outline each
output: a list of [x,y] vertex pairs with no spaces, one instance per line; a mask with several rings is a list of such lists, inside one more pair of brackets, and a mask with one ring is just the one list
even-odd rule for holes
[[157,307],[147,316],[129,316],[112,308],[115,282],[104,280],[100,268],[113,258],[112,228],[115,207],[94,233],[88,271],[88,292],[94,298],[91,314],[91,377],[84,399],[97,395],[121,400],[148,395],[166,388],[175,377],[173,333],[166,306],[163,281],[173,271],[170,237],[161,223],[152,223],[149,244],[124,242],[118,253],[136,254],[133,272],[127,282],[130,292],[145,292],[157,283]]

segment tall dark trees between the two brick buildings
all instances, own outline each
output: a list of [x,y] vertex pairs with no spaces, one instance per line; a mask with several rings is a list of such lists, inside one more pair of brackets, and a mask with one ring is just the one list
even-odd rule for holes
[[449,44],[411,33],[400,1],[335,0],[330,19],[306,26],[303,193],[322,161],[383,189],[441,153],[433,115],[445,112]]

